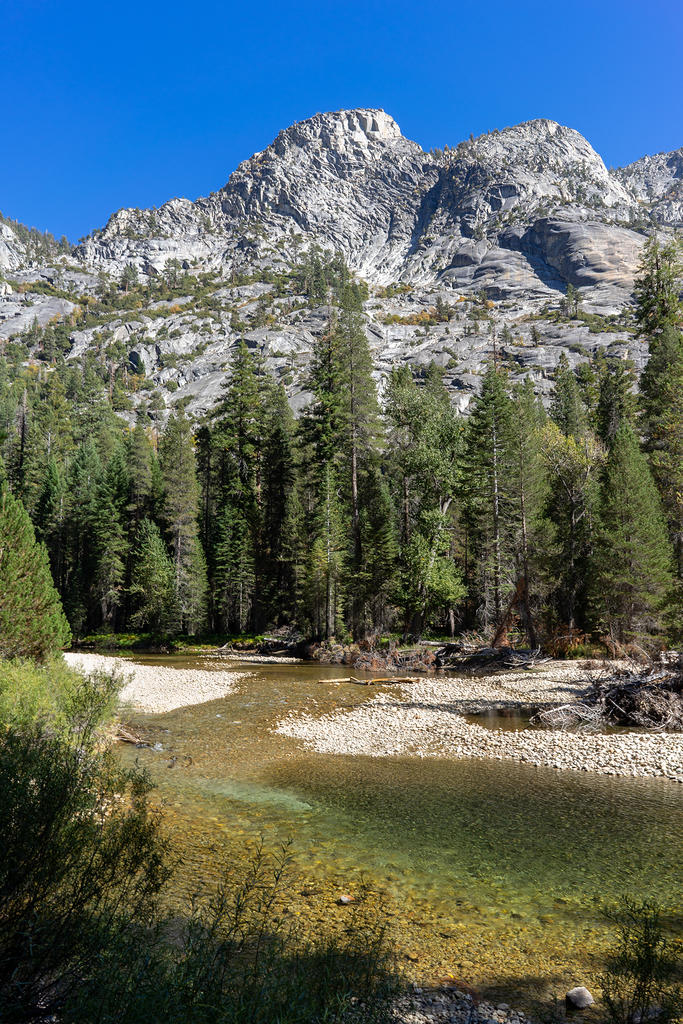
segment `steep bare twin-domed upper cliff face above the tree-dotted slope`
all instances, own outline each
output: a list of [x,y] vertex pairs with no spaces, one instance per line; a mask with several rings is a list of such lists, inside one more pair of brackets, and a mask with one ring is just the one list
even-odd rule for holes
[[541,297],[571,283],[614,304],[641,241],[625,225],[641,215],[586,139],[555,122],[425,154],[383,111],[341,111],[281,132],[206,199],[119,211],[79,256],[112,273],[169,257],[226,269],[314,242],[378,284]]

